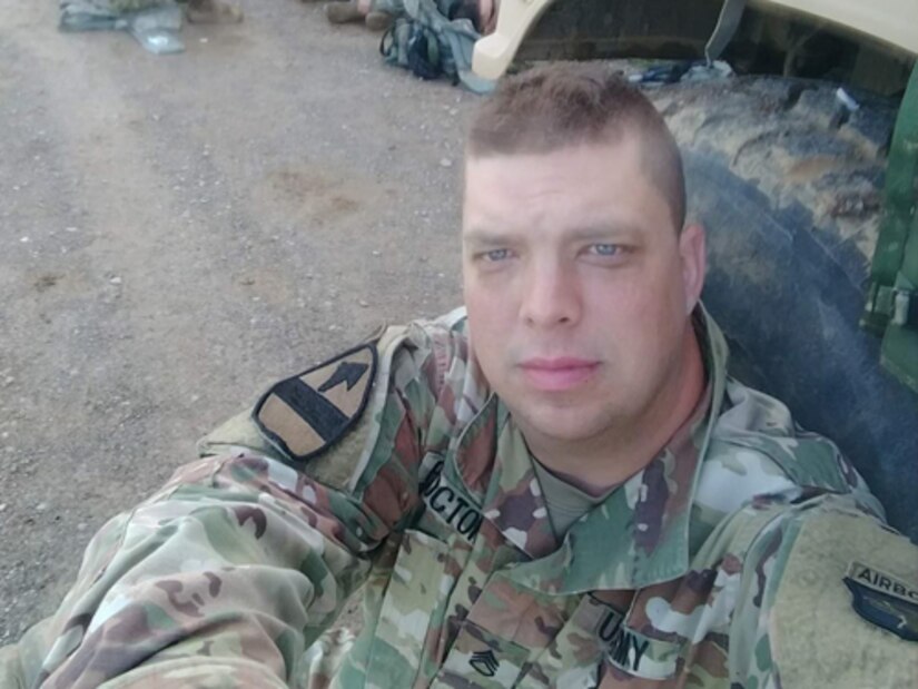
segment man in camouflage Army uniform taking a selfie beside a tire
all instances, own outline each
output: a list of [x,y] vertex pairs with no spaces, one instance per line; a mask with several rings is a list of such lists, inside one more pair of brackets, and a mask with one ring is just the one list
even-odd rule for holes
[[[918,552],[727,374],[678,148],[601,67],[466,149],[467,315],[274,385],[92,540],[0,686],[916,686]],[[356,641],[324,633],[364,590]]]

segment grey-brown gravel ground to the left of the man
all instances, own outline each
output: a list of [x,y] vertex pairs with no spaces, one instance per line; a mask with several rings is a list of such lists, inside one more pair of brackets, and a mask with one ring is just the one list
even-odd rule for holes
[[157,57],[0,0],[0,644],[269,383],[460,301],[477,97],[318,3],[243,7]]

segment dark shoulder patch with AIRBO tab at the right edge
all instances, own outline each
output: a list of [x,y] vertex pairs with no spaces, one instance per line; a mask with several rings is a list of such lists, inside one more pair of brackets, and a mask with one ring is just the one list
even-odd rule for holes
[[906,641],[918,641],[918,591],[869,565],[855,562],[845,578],[860,617]]

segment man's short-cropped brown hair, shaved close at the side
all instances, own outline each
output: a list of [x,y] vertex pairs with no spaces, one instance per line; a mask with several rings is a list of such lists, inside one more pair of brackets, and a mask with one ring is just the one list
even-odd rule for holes
[[685,222],[682,157],[653,104],[601,62],[554,63],[504,79],[472,122],[475,157],[547,154],[565,146],[641,137],[643,171]]

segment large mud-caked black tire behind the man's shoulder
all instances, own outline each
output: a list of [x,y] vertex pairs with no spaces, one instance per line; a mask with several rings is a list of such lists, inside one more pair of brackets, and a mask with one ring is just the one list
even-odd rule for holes
[[918,542],[918,395],[859,329],[896,102],[744,77],[649,91],[683,150],[708,230],[704,303],[731,370],[835,440]]

